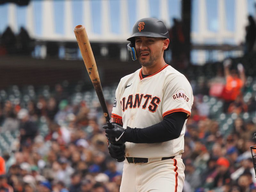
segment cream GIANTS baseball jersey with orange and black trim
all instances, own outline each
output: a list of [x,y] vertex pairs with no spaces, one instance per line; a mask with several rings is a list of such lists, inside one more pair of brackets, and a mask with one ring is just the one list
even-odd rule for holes
[[[116,89],[112,122],[131,128],[145,128],[161,122],[173,112],[190,116],[192,88],[184,75],[165,65],[155,74],[142,77],[142,68],[123,77]],[[184,152],[185,121],[180,137],[162,143],[125,143],[127,157],[169,157]]]

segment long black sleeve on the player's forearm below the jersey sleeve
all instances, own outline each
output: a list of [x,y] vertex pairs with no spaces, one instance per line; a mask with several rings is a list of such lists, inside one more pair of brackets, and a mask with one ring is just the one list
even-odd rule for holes
[[174,112],[165,116],[160,123],[146,128],[130,128],[125,131],[125,140],[132,143],[160,143],[180,136],[187,114]]

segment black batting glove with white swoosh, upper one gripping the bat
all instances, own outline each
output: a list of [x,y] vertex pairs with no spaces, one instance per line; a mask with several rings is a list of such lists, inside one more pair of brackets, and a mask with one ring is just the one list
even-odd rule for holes
[[125,143],[125,129],[118,124],[112,124],[113,128],[109,128],[108,125],[103,125],[103,128],[106,129],[106,137],[109,142],[115,145],[121,145]]

